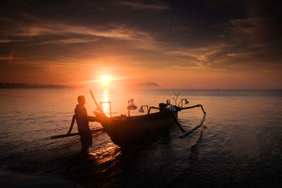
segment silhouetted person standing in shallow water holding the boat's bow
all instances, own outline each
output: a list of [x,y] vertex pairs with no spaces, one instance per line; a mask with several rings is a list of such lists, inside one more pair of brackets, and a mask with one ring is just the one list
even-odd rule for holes
[[78,104],[75,107],[75,115],[73,115],[73,120],[71,122],[70,130],[67,134],[71,133],[73,129],[73,124],[76,119],[78,124],[78,132],[80,134],[80,142],[82,146],[82,153],[87,153],[87,150],[92,146],[92,134],[89,127],[89,121],[96,121],[96,117],[88,116],[87,110],[85,108],[85,97],[80,95],[78,96]]

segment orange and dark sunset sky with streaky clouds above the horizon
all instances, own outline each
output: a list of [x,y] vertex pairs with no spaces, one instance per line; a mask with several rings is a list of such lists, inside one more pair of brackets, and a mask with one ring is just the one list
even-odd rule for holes
[[1,1],[0,82],[282,89],[270,1]]

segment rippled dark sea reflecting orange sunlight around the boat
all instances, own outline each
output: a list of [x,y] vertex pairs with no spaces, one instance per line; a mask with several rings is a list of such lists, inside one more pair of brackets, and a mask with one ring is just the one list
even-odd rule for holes
[[[178,90],[93,92],[97,101],[111,101],[115,116],[128,113],[128,99],[158,106],[173,102]],[[78,136],[49,137],[68,132],[78,95],[85,95],[88,114],[94,115],[87,89],[0,89],[0,168],[82,187],[281,187],[282,90],[179,92],[178,101],[188,99],[186,106],[202,104],[207,111],[204,126],[188,137],[179,139],[181,132],[172,125],[124,150],[102,132],[82,158]],[[178,118],[190,130],[202,111],[181,111]],[[98,127],[90,123],[91,129]]]

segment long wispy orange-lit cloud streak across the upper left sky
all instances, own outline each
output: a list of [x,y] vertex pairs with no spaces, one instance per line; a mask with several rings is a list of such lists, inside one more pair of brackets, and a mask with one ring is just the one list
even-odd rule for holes
[[153,37],[148,32],[144,32],[137,27],[113,24],[90,27],[49,22],[47,20],[37,20],[36,23],[32,24],[18,23],[16,28],[7,30],[4,35],[8,39],[1,39],[0,43],[32,41],[30,42],[32,45],[37,43],[73,44],[97,42],[99,39],[116,39],[138,42],[137,46],[141,49],[150,48],[154,43]]

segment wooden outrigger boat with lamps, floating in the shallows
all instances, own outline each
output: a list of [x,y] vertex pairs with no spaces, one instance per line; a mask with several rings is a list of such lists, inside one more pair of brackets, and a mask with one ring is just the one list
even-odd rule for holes
[[[171,125],[177,125],[179,129],[183,132],[183,134],[180,135],[180,138],[187,136],[194,130],[197,130],[197,128],[201,127],[204,123],[204,120],[206,118],[206,112],[204,111],[204,108],[201,104],[195,105],[195,106],[188,106],[183,107],[183,101],[185,101],[185,104],[188,104],[189,102],[187,99],[181,99],[178,106],[172,105],[170,103],[170,100],[166,101],[166,104],[160,103],[159,107],[147,107],[147,114],[146,115],[135,115],[130,116],[130,110],[136,109],[137,106],[135,106],[133,99],[128,101],[128,116],[126,115],[119,115],[115,117],[111,117],[111,102],[107,102],[110,104],[110,115],[109,117],[104,113],[100,105],[97,103],[96,99],[94,98],[94,95],[90,91],[90,94],[92,96],[92,99],[94,103],[97,106],[98,111],[93,111],[94,114],[97,117],[97,121],[101,123],[101,125],[104,127],[104,132],[106,132],[109,137],[111,137],[111,140],[114,142],[114,144],[126,147],[130,146],[133,142],[137,142],[138,140],[144,138],[148,134],[152,134],[152,132],[156,132],[157,130],[160,130],[161,128],[168,127]],[[176,99],[179,95],[176,94]],[[181,104],[181,106],[180,106]],[[144,112],[143,106],[140,108],[140,112]],[[201,107],[202,112],[204,113],[203,118],[199,125],[192,128],[192,130],[186,132],[183,127],[178,122],[178,112],[183,111],[190,108],[196,108]],[[156,113],[150,113],[152,109],[158,109],[159,112]],[[101,132],[102,129],[92,130],[92,133]],[[61,137],[70,137],[73,135],[78,135],[78,133],[74,134],[61,134],[56,135],[51,138],[61,138]]]

